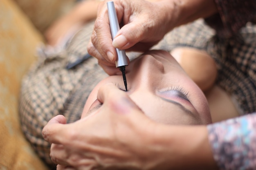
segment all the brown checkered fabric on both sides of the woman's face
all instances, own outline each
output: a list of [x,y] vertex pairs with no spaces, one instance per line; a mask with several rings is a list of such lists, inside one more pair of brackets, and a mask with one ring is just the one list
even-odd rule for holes
[[[67,118],[67,123],[78,120],[90,91],[107,76],[93,57],[70,70],[65,68],[87,53],[92,28],[93,23],[87,24],[60,53],[43,51],[22,82],[22,130],[38,155],[52,167],[50,144],[41,134],[43,127],[59,114]],[[256,111],[256,27],[248,24],[238,36],[229,39],[214,35],[204,20],[197,20],[166,34],[153,49],[171,51],[190,46],[207,51],[218,66],[218,85],[236,98],[243,113]],[[138,55],[127,54],[131,59]]]

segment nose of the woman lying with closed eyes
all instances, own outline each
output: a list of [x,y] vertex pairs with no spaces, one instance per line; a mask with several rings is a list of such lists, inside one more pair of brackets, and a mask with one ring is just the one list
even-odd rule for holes
[[[131,91],[153,90],[162,81],[164,65],[157,56],[143,55],[135,60],[130,68],[129,79],[132,82]],[[128,82],[129,83],[129,82]]]

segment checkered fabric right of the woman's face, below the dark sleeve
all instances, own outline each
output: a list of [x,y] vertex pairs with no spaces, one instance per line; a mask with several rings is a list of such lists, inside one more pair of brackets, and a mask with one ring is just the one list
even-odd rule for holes
[[256,111],[256,25],[248,22],[236,36],[220,38],[197,20],[168,33],[161,48],[189,46],[206,51],[216,61],[217,84],[231,94],[241,114]]

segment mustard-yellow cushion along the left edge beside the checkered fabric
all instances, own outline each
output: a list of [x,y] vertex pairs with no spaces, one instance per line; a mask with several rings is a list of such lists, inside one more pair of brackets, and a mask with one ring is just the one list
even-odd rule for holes
[[18,116],[22,76],[41,35],[11,0],[0,2],[0,169],[47,170],[25,139]]

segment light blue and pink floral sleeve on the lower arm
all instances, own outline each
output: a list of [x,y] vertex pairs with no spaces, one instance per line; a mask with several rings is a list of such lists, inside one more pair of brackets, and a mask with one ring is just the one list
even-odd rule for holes
[[207,126],[220,170],[256,169],[256,113]]

